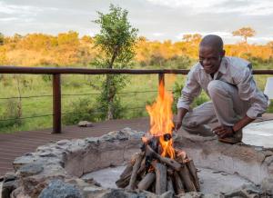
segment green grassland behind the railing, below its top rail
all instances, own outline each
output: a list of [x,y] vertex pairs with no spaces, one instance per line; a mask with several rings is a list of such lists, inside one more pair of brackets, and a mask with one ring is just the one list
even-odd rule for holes
[[[73,124],[67,121],[67,117],[77,117],[80,114],[88,114],[92,109],[92,119],[97,121],[95,102],[99,90],[96,89],[97,79],[95,75],[62,75],[62,113],[63,123]],[[256,75],[255,79],[261,90],[264,89],[268,75]],[[157,74],[127,75],[129,79],[126,87],[118,94],[123,104],[122,117],[130,119],[147,116],[146,104],[151,103],[157,97]],[[19,80],[18,80],[19,79]],[[183,75],[166,75],[167,90],[174,90],[175,84],[184,84]],[[19,82],[19,84],[18,84]],[[18,89],[19,85],[19,89]],[[45,75],[18,75],[5,74],[0,84],[0,133],[13,133],[16,131],[36,130],[52,127],[52,83],[49,76]],[[8,120],[16,117],[18,111],[19,91],[21,94],[21,120]],[[175,93],[177,94],[177,93]],[[11,98],[13,99],[5,99]],[[194,105],[207,100],[202,94]],[[76,109],[76,104],[83,105]],[[273,106],[268,108],[273,113]],[[46,116],[41,116],[46,115]],[[40,117],[41,116],[41,117]],[[33,118],[28,118],[33,117]],[[64,120],[65,119],[65,120]],[[70,123],[69,123],[70,122]]]

